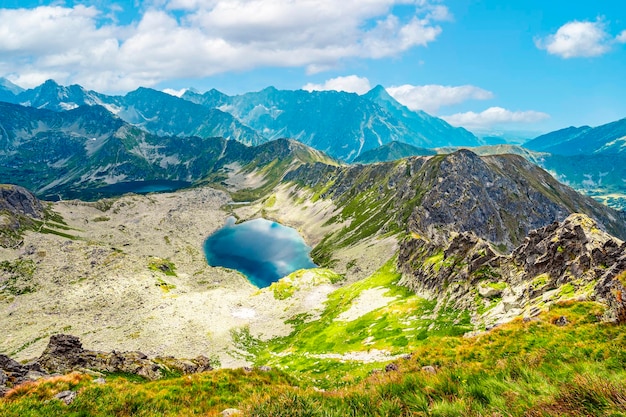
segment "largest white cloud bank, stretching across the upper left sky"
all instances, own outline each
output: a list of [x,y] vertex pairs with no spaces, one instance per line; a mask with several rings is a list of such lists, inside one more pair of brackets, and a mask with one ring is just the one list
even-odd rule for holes
[[258,67],[314,73],[425,46],[450,19],[439,0],[150,0],[141,10],[120,25],[115,9],[93,6],[0,9],[0,75],[122,91]]

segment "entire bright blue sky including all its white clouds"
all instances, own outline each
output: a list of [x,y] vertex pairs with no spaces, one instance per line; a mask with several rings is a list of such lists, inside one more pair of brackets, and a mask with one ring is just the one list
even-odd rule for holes
[[0,76],[105,93],[363,93],[474,131],[626,117],[617,0],[0,0]]

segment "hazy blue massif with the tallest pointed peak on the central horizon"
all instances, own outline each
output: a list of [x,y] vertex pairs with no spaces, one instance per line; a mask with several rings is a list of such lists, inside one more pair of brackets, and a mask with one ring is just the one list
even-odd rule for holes
[[381,86],[364,95],[268,87],[238,96],[187,91],[182,98],[229,112],[267,139],[294,138],[344,161],[392,141],[419,147],[482,143],[463,128],[409,110]]

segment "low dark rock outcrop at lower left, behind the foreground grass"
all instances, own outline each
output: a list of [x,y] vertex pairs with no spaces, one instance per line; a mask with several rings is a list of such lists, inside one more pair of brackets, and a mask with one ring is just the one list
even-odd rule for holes
[[150,359],[141,352],[97,352],[84,349],[76,336],[58,334],[50,337],[39,359],[30,364],[22,365],[0,355],[0,396],[11,387],[25,382],[73,371],[123,372],[156,380],[168,371],[193,374],[212,369],[211,361],[204,356],[189,360],[173,357]]

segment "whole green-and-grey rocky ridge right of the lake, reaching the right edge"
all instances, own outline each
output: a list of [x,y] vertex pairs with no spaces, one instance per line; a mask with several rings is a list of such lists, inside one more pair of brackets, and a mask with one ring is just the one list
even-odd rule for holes
[[626,237],[624,213],[581,196],[516,155],[461,150],[374,165],[318,163],[287,173],[284,181],[332,200],[338,212],[328,223],[348,222],[326,236],[314,251],[318,256],[386,233],[473,232],[506,251],[531,230],[571,213],[588,214]]

